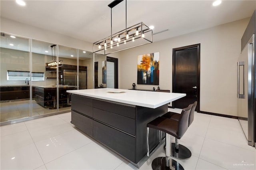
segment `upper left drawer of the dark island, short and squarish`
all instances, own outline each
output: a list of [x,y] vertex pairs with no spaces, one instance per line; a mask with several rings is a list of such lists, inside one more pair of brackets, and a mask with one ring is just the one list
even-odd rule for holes
[[92,99],[80,95],[72,95],[72,110],[92,117]]

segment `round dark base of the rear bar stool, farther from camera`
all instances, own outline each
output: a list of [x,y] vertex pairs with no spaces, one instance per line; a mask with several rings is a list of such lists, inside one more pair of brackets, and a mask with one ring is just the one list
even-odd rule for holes
[[[164,145],[164,150],[165,149],[166,146]],[[172,143],[170,156],[176,159],[186,160],[189,159],[192,156],[192,154],[190,150],[186,146],[183,146],[182,144],[179,144],[179,152],[175,152],[175,143]]]

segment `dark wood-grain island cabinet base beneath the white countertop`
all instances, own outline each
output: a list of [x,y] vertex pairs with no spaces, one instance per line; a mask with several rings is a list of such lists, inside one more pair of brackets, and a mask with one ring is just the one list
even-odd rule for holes
[[[138,164],[146,156],[146,125],[168,111],[114,103],[72,94],[71,123],[122,158]],[[150,130],[149,145],[159,143],[157,130]]]

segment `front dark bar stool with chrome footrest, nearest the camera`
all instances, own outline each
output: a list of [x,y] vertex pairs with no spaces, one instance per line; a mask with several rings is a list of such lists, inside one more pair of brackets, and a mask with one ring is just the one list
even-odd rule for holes
[[[147,124],[147,155],[149,156],[149,146],[148,146],[148,132],[149,128],[154,128],[166,133],[166,156],[155,158],[152,161],[153,170],[170,170],[171,167],[179,170],[184,170],[184,168],[175,160],[170,158],[170,135],[175,138],[180,139],[186,130],[188,129],[188,117],[191,110],[191,105],[185,109],[182,109],[180,114],[180,119],[178,121],[174,119],[168,119],[165,117],[158,117]],[[179,154],[176,152],[176,154]],[[171,166],[171,167],[170,167]],[[172,168],[172,169],[173,169]]]

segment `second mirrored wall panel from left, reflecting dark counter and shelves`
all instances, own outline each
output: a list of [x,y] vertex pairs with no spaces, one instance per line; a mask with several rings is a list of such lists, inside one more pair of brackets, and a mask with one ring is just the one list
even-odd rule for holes
[[57,67],[46,67],[56,57],[56,44],[32,40],[32,72],[44,79],[32,81],[32,116],[57,112]]

